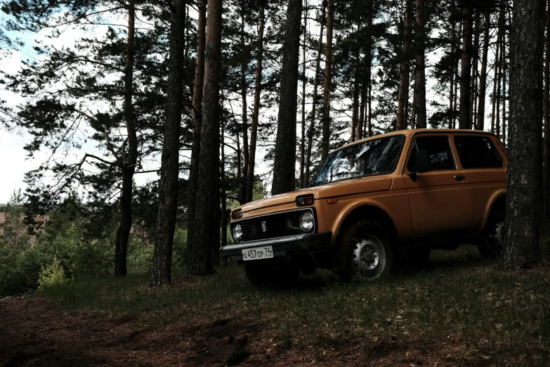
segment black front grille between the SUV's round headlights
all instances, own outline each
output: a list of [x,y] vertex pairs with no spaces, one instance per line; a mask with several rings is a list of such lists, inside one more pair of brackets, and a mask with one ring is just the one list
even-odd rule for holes
[[[282,212],[277,214],[268,214],[251,219],[244,219],[232,224],[240,224],[242,228],[242,242],[268,240],[269,238],[297,236],[306,232],[300,228],[300,214],[304,211],[312,212],[315,219],[315,213],[311,209],[293,210],[291,212]],[[315,231],[315,226],[313,233]],[[232,231],[233,232],[233,231]]]

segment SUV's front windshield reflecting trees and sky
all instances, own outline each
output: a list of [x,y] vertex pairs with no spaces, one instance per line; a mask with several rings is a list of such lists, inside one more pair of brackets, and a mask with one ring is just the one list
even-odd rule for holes
[[404,142],[404,135],[395,135],[336,150],[322,162],[310,186],[354,177],[391,174],[397,167]]

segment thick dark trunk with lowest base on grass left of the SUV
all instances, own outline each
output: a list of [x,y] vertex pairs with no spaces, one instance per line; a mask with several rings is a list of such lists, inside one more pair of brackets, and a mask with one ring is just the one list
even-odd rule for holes
[[164,144],[162,146],[159,212],[153,249],[150,286],[171,283],[173,233],[178,209],[178,158],[185,56],[185,1],[173,0]]

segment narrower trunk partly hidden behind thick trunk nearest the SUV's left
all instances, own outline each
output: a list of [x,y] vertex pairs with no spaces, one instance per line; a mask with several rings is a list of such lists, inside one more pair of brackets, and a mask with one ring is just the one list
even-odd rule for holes
[[[193,140],[191,146],[191,162],[188,180],[188,231],[187,243],[194,243],[195,211],[197,207],[197,176],[199,174],[200,131],[202,126],[202,94],[204,89],[204,49],[206,47],[207,30],[207,0],[201,0],[199,20],[197,24],[197,65],[195,66],[195,82],[193,86],[192,117]],[[186,250],[188,250],[187,246]]]

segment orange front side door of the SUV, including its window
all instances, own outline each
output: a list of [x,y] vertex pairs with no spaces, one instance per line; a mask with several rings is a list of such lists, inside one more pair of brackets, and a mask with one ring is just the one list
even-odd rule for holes
[[[415,235],[467,228],[472,221],[466,172],[457,169],[447,134],[414,136],[403,169]],[[416,174],[416,152],[428,150],[431,171]]]

